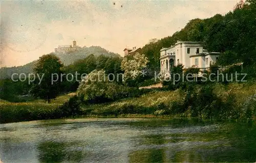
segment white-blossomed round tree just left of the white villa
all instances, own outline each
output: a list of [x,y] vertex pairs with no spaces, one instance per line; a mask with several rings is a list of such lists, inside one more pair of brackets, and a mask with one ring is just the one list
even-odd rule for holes
[[121,69],[124,71],[124,80],[135,80],[142,73],[142,70],[146,68],[148,63],[147,57],[136,52],[133,59],[129,60],[124,58],[121,63]]

